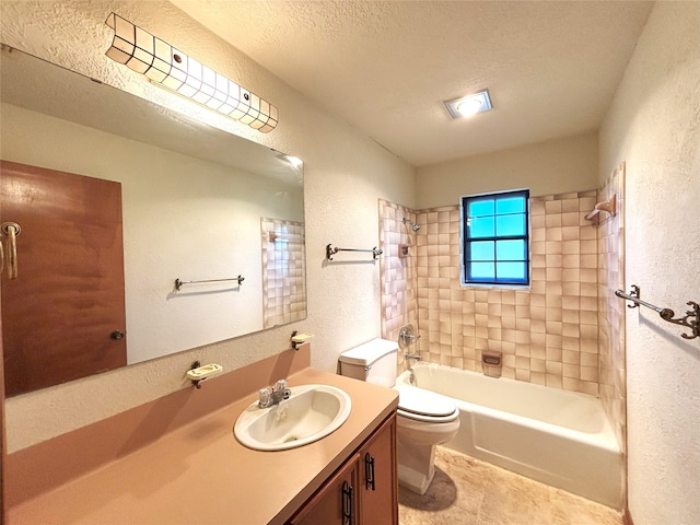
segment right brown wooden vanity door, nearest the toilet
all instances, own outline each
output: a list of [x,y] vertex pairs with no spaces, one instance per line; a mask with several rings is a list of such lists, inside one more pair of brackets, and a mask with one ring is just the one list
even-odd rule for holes
[[396,415],[360,450],[360,515],[364,525],[398,524]]

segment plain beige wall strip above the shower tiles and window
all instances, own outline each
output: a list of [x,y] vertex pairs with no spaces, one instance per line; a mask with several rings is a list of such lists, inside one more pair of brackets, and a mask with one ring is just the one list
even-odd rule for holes
[[597,133],[591,132],[419,167],[416,208],[516,188],[529,188],[533,197],[585,191],[598,186],[597,148]]

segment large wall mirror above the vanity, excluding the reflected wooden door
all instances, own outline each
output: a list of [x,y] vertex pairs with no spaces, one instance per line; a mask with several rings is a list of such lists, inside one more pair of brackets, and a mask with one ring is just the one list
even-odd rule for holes
[[127,365],[306,317],[301,163],[7,46],[0,65],[3,161],[120,184]]

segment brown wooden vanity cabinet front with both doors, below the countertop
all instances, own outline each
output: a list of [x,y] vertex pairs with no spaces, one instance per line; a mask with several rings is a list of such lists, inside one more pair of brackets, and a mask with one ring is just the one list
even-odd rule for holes
[[289,525],[397,525],[393,413],[301,508]]

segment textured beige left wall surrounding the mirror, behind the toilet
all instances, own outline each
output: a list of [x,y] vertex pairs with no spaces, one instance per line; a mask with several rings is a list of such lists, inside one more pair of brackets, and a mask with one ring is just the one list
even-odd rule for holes
[[3,1],[0,10],[3,43],[142,96],[171,100],[104,56],[112,42],[104,21],[115,11],[276,104],[280,125],[267,136],[236,122],[217,124],[304,160],[310,305],[307,319],[294,325],[10,399],[9,452],[187,387],[185,372],[195,359],[237,369],[289,348],[296,329],[316,334],[312,363],[335,372],[341,351],[380,336],[378,265],[327,265],[325,246],[377,245],[377,197],[412,205],[411,166],[168,2]]

